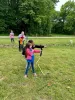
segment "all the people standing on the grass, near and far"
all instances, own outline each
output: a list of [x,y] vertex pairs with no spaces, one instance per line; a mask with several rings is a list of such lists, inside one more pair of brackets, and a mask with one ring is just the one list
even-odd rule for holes
[[[12,30],[10,33],[10,38],[11,38],[11,42],[14,42],[14,33]],[[18,35],[18,39],[19,39],[19,51],[22,51],[22,55],[25,56],[25,59],[27,61],[24,77],[25,78],[28,77],[28,71],[30,67],[32,67],[33,75],[37,76],[34,69],[34,53],[40,53],[41,56],[42,48],[44,48],[45,46],[35,45],[33,40],[27,41],[26,45],[24,46],[24,40],[25,40],[24,31],[22,31],[21,34]],[[40,48],[40,49],[36,50],[35,48]]]

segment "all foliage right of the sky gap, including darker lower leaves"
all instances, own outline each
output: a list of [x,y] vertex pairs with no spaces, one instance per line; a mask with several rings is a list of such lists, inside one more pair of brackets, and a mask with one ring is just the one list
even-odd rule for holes
[[75,2],[68,1],[57,12],[54,25],[55,33],[75,34]]

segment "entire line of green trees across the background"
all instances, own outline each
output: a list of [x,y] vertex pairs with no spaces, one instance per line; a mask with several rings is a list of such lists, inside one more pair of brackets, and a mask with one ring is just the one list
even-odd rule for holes
[[59,0],[0,0],[0,34],[13,30],[29,35],[75,34],[75,2],[68,1],[60,11]]

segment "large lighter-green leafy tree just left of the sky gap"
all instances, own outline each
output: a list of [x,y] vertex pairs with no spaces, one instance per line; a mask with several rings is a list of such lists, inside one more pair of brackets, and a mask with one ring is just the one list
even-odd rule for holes
[[54,4],[57,0],[27,0],[22,2],[21,20],[28,26],[29,33],[44,35],[51,33]]

